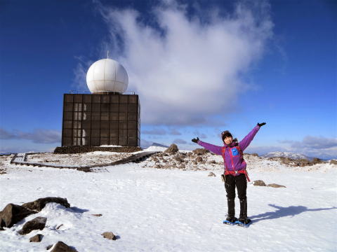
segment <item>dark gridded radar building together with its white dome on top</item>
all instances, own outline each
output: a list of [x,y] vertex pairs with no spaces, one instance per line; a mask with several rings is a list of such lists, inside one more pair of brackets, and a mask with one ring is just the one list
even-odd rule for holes
[[100,59],[86,74],[91,94],[64,94],[62,146],[140,146],[140,103],[124,94],[128,74]]

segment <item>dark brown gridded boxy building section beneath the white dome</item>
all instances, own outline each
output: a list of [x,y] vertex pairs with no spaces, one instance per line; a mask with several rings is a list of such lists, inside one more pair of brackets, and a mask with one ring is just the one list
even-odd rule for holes
[[64,94],[62,146],[140,146],[137,94]]

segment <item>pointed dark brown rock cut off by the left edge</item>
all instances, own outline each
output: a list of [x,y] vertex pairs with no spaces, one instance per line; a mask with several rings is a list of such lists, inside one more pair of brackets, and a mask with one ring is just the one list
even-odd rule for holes
[[15,223],[18,223],[31,214],[37,214],[37,212],[17,204],[8,204],[0,211],[0,227],[11,228]]

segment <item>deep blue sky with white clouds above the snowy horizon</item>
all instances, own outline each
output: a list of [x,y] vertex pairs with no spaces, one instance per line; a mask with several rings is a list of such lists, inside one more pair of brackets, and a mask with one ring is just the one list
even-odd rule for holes
[[140,95],[142,144],[337,158],[336,1],[1,1],[0,152],[60,146],[62,97],[98,59]]

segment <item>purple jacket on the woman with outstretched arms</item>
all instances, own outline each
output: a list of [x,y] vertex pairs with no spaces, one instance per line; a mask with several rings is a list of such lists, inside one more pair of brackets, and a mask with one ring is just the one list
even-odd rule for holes
[[246,169],[246,162],[244,161],[244,158],[242,157],[239,149],[241,149],[242,153],[243,151],[251,144],[251,141],[255,137],[256,133],[258,133],[258,130],[260,130],[260,126],[256,125],[256,127],[249,132],[249,134],[242,139],[242,141],[237,144],[236,142],[232,142],[229,146],[224,143],[224,146],[215,146],[213,144],[208,144],[203,141],[198,141],[197,144],[200,146],[206,148],[207,150],[223,156],[223,161],[225,165],[225,169],[227,167],[230,171],[239,171],[242,169]]

